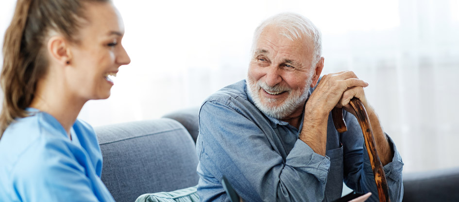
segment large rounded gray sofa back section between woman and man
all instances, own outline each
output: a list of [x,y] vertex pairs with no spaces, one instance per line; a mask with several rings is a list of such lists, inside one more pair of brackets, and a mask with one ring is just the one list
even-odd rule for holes
[[195,144],[177,121],[135,121],[95,131],[103,157],[102,182],[117,202],[198,184]]

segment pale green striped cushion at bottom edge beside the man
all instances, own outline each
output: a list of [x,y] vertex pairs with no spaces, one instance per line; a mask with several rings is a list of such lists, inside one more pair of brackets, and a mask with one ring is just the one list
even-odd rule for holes
[[197,187],[196,185],[171,192],[143,194],[137,198],[136,202],[199,202]]

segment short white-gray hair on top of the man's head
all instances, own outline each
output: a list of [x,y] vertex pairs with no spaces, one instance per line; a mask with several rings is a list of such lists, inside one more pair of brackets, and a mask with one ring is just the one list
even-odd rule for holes
[[256,29],[252,42],[252,53],[255,51],[255,43],[263,30],[268,26],[282,28],[283,36],[290,40],[302,39],[308,36],[314,42],[314,53],[311,68],[314,68],[322,56],[322,34],[308,18],[296,13],[280,13],[263,21]]

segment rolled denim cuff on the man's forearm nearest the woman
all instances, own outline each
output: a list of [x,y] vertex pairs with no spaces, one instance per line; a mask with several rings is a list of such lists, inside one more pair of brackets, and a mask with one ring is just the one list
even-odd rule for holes
[[298,139],[287,155],[286,166],[312,174],[320,182],[325,183],[330,169],[330,158],[317,154],[309,145]]

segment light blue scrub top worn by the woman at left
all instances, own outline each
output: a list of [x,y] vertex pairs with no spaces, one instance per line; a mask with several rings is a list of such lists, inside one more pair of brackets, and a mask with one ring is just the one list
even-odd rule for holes
[[81,120],[70,135],[50,114],[29,108],[0,139],[0,201],[113,202],[101,181],[102,153]]

